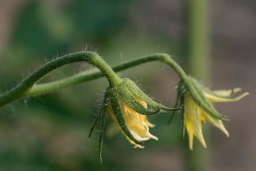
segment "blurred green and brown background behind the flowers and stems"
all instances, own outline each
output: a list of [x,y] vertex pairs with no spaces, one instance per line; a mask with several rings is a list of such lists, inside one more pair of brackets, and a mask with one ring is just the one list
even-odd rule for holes
[[[172,54],[211,89],[240,86],[251,93],[236,104],[216,105],[231,120],[225,123],[231,136],[204,126],[207,149],[195,140],[189,151],[187,140],[180,141],[179,116],[171,125],[166,125],[168,114],[150,117],[157,125],[150,132],[159,141],[147,141],[145,149],[133,149],[120,133],[110,135],[107,117],[102,164],[99,133],[91,139],[88,133],[97,100],[108,86],[105,78],[20,100],[0,109],[0,170],[255,170],[255,8],[253,0],[199,6],[185,0],[0,1],[0,93],[45,62],[85,49],[97,51],[109,65],[151,53]],[[41,82],[90,67],[68,65]],[[169,67],[154,62],[118,75],[173,106],[179,79]]]

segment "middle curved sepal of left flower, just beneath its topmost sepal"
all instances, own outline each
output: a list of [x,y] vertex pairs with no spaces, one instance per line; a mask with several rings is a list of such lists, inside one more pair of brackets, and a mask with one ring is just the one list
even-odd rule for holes
[[159,108],[157,109],[154,108],[153,110],[144,108],[144,106],[140,104],[140,102],[133,96],[133,94],[129,92],[126,86],[120,86],[118,88],[118,92],[121,98],[125,101],[125,103],[127,103],[127,105],[130,108],[132,108],[139,114],[152,115],[152,114],[157,114],[160,111]]

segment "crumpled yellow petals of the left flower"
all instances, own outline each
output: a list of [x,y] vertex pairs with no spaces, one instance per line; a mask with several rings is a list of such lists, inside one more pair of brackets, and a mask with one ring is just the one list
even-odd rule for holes
[[[138,97],[136,97],[136,99],[140,102],[140,104],[143,105],[144,108],[147,108],[146,102],[142,101]],[[120,104],[121,104],[121,109],[124,114],[124,119],[127,124],[127,127],[129,129],[129,131],[131,132],[132,136],[137,141],[146,141],[146,140],[149,140],[150,138],[158,140],[158,138],[156,136],[151,135],[151,133],[149,132],[149,127],[153,128],[155,125],[151,124],[148,121],[146,115],[140,114],[140,113],[136,112],[135,110],[133,110],[132,108],[130,108],[127,105],[127,103],[124,102],[124,100],[121,100]],[[111,106],[110,102],[108,103],[107,112],[112,117],[114,122],[118,125],[118,122],[116,120],[116,117],[114,115],[114,112],[112,110],[112,106]],[[136,144],[127,135],[125,135],[125,137],[127,138],[127,140],[130,143],[135,145],[134,148],[137,148],[137,147],[144,148],[144,146],[142,146],[140,144]]]

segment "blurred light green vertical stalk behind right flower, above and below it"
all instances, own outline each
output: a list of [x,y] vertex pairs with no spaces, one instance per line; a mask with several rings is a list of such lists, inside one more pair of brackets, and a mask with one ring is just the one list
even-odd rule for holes
[[[210,35],[208,0],[185,0],[185,57],[188,59],[190,74],[204,82],[209,81],[210,75]],[[210,130],[204,125],[204,138],[207,149],[194,138],[194,150],[187,151],[187,170],[204,171],[209,167]],[[188,149],[188,148],[187,148]]]

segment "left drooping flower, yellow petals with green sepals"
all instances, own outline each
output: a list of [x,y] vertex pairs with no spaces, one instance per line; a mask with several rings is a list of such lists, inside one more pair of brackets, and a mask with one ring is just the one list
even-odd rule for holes
[[179,109],[168,108],[155,102],[140,90],[133,81],[127,78],[122,79],[119,85],[109,87],[105,92],[102,107],[89,134],[90,136],[99,119],[101,123],[99,138],[100,161],[102,161],[101,149],[105,128],[105,111],[109,113],[127,140],[135,145],[135,148],[144,148],[143,141],[150,138],[158,140],[156,136],[151,135],[149,132],[149,127],[154,127],[154,124],[147,120],[146,115],[157,114],[165,110],[175,111]]

